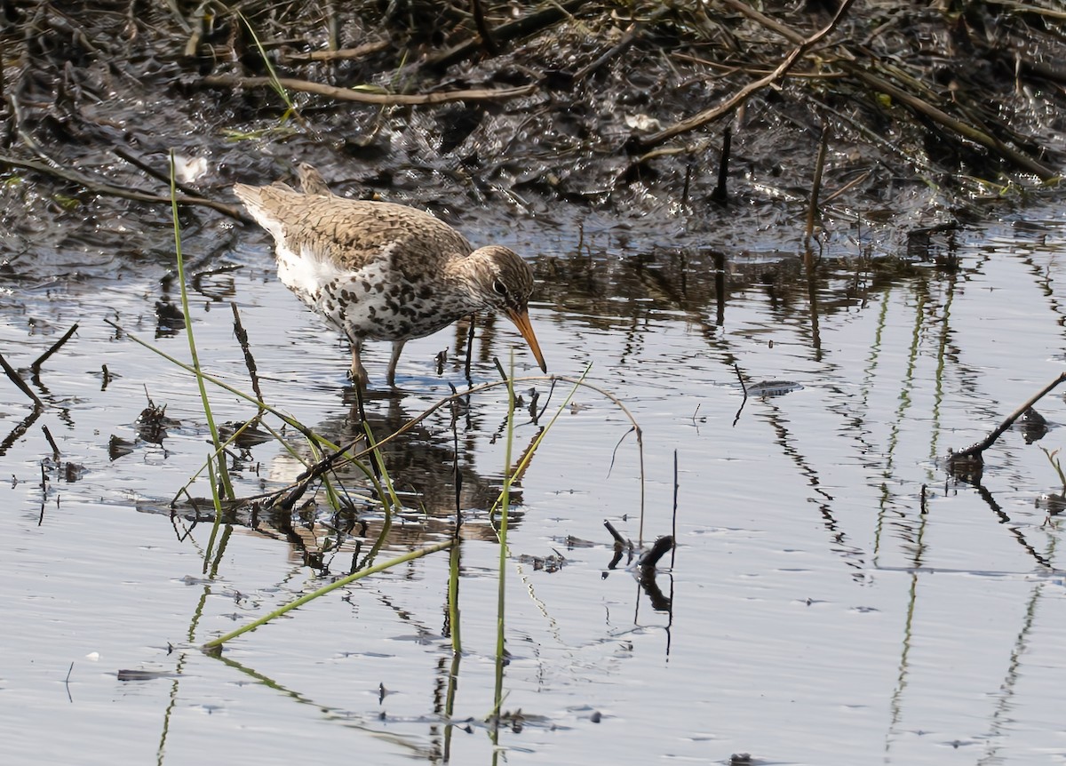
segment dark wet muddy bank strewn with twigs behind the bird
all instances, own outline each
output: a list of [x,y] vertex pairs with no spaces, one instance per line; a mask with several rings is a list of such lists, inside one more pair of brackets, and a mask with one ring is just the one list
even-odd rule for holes
[[[471,234],[582,229],[730,257],[908,233],[1059,194],[1063,14],[1011,2],[9,1],[0,267],[11,278],[171,258],[240,234],[232,182],[322,169],[335,190]],[[728,149],[727,185],[721,164]]]

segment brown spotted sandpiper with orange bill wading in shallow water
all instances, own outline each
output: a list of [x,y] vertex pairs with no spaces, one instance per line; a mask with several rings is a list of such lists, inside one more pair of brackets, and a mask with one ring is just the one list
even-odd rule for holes
[[365,340],[391,340],[395,386],[404,344],[479,310],[500,310],[518,328],[545,372],[527,302],[533,272],[499,245],[474,250],[427,212],[330,193],[318,171],[300,166],[303,192],[286,183],[244,183],[233,192],[274,237],[281,282],[352,345],[352,380],[366,387]]

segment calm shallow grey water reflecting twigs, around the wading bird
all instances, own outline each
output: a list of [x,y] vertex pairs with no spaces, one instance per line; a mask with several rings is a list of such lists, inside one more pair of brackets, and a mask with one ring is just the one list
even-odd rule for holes
[[[520,238],[532,226],[521,228],[496,238],[534,258],[543,286],[531,315],[549,366],[577,377],[592,365],[587,380],[632,412],[644,541],[673,531],[678,548],[656,579],[669,611],[632,573],[609,569],[603,521],[640,534],[641,456],[619,409],[579,389],[516,488],[503,703],[513,715],[499,737],[508,763],[1066,760],[1061,522],[1039,502],[1062,491],[1040,451],[1063,446],[1062,394],[1037,405],[1047,435],[1028,445],[1007,431],[980,485],[937,461],[1063,371],[1061,213],[946,235],[921,250],[927,259],[826,258],[813,278],[797,257],[722,262],[711,250],[605,230],[531,246]],[[224,261],[203,266],[241,268],[193,292],[205,366],[248,388],[233,301],[266,400],[330,438],[351,436],[346,352],[273,276],[258,233],[235,241]],[[195,259],[195,242],[187,251]],[[445,636],[445,554],[207,656],[196,645],[346,574],[381,520],[356,497],[359,548],[358,526],[337,531],[352,520],[313,507],[252,526],[241,516],[205,574],[210,524],[193,524],[188,506],[168,512],[209,451],[195,382],[104,322],[188,358],[183,333],[155,337],[156,303],[175,294],[161,283],[165,253],[135,266],[61,254],[30,276],[0,277],[0,349],[12,365],[29,367],[79,324],[31,383],[48,404],[38,418],[27,421],[28,400],[0,379],[4,761],[489,763],[499,549],[485,509],[503,473],[503,389],[458,416],[461,657]],[[498,380],[491,360],[507,365],[511,347],[515,373],[535,372],[505,321],[480,326],[472,382]],[[459,330],[408,344],[398,376],[408,393],[368,402],[378,435],[449,383],[467,384],[464,349]],[[378,380],[387,353],[374,345],[365,357]],[[745,402],[738,376],[775,382],[778,395]],[[549,385],[519,384],[527,404],[531,387],[543,406]],[[175,421],[161,443],[138,440],[146,395]],[[211,401],[220,421],[254,414],[217,389]],[[450,426],[441,410],[387,450],[409,512],[383,557],[450,533]],[[515,454],[536,433],[519,418]],[[132,451],[112,459],[113,436]],[[273,442],[235,464],[243,494],[301,469]],[[364,492],[357,474],[341,478]],[[209,495],[207,484],[191,494]],[[561,568],[540,565],[553,556]],[[119,675],[129,670],[160,674]]]

